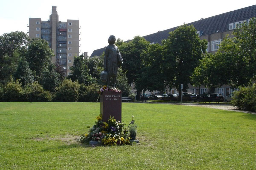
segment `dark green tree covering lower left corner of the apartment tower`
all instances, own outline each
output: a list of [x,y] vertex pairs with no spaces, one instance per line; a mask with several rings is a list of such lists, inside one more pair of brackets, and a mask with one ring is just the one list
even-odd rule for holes
[[44,39],[32,39],[28,45],[26,59],[29,62],[30,69],[36,72],[40,77],[43,68],[46,68],[54,56],[48,42]]

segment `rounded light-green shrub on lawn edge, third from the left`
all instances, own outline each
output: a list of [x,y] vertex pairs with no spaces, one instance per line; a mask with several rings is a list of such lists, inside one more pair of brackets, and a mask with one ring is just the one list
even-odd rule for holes
[[66,79],[56,88],[54,101],[57,102],[77,102],[79,97],[79,83]]

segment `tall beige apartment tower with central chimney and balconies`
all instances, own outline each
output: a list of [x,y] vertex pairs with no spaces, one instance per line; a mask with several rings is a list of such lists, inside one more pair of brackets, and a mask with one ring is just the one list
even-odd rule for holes
[[41,18],[29,18],[28,27],[29,37],[46,40],[54,52],[52,63],[59,62],[67,75],[70,75],[74,56],[79,55],[79,20],[59,21],[57,6],[52,6],[48,21],[42,21]]

